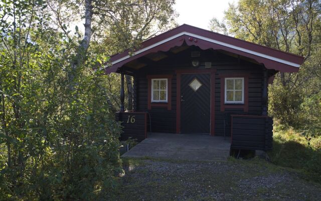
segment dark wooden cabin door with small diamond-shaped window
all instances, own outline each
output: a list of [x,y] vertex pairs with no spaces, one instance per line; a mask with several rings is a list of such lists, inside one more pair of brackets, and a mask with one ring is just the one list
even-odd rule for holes
[[211,74],[181,75],[181,133],[209,134]]

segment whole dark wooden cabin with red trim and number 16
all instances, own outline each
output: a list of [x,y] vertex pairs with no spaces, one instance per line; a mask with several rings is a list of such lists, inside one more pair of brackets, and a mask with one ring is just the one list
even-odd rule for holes
[[[297,72],[303,57],[182,25],[111,57],[121,73],[122,140],[147,132],[231,137],[231,148],[272,148],[268,84]],[[133,76],[133,111],[124,111],[124,74]]]

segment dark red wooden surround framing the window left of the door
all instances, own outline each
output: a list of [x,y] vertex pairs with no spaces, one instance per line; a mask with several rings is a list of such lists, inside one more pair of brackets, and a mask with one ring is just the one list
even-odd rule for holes
[[[164,74],[164,75],[147,75],[147,109],[151,110],[152,107],[163,107],[168,110],[172,110],[172,78],[173,75]],[[167,78],[168,84],[168,102],[167,103],[151,103],[151,79],[156,78]]]

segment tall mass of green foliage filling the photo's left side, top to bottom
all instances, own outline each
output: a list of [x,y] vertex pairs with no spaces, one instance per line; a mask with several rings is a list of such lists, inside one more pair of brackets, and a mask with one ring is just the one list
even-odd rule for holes
[[51,29],[41,0],[2,4],[0,199],[112,193],[121,172],[121,127],[106,104],[104,76],[93,70],[103,55],[87,54],[73,70],[71,89],[80,34]]

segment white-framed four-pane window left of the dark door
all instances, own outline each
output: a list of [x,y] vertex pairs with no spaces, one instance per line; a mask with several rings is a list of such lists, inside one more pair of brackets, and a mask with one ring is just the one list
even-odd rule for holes
[[168,102],[168,79],[151,79],[151,102]]

